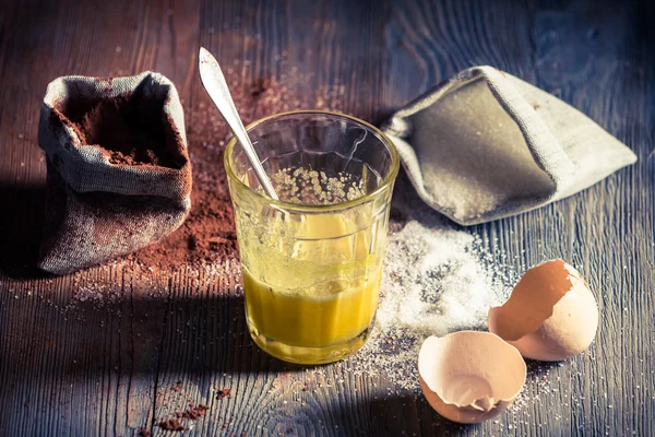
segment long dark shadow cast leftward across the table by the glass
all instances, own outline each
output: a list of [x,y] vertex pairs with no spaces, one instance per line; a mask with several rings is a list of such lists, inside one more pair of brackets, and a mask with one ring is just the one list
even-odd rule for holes
[[[111,291],[103,293],[103,300],[111,299]],[[33,374],[25,363],[45,356],[48,370],[71,376],[95,370],[203,375],[298,369],[254,344],[242,296],[128,295],[109,304],[90,298],[68,308],[56,297],[11,297],[8,310],[0,312],[0,326],[12,330],[0,338],[0,346],[7,352],[4,374],[19,379]]]

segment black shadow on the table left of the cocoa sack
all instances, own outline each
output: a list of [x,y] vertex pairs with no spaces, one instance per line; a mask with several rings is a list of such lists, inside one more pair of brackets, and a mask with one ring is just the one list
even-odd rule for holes
[[45,185],[0,181],[0,271],[14,279],[41,277],[36,268],[44,224]]

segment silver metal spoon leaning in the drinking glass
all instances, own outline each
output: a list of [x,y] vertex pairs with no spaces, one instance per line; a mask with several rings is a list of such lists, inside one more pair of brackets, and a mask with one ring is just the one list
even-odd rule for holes
[[266,176],[266,172],[264,172],[264,167],[262,167],[262,164],[257,156],[257,152],[250,142],[250,138],[248,138],[246,128],[243,128],[243,123],[241,122],[239,113],[237,113],[235,102],[229,94],[229,88],[227,87],[225,76],[223,75],[223,71],[221,71],[218,62],[212,56],[212,54],[210,54],[203,47],[200,48],[199,59],[198,68],[200,69],[200,79],[207,91],[207,94],[210,97],[212,97],[212,101],[214,101],[214,104],[227,122],[227,126],[229,126],[229,129],[237,141],[241,143],[241,146],[248,156],[248,161],[250,161],[250,164],[254,169],[254,174],[257,175],[261,186],[264,188],[264,191],[266,194],[269,194],[269,197],[277,200],[278,198],[275,193],[275,189],[273,188],[269,176]]

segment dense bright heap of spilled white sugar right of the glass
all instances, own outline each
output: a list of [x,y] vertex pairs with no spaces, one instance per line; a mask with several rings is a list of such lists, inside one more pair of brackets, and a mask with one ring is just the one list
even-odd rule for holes
[[492,290],[475,255],[475,243],[471,234],[432,231],[417,222],[393,236],[379,327],[403,329],[413,336],[484,328],[483,319],[499,291]]

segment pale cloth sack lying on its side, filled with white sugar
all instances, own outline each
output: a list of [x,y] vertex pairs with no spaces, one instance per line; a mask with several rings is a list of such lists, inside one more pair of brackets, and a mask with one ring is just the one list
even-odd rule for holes
[[579,110],[492,67],[443,82],[383,131],[419,196],[463,225],[563,199],[636,161]]

